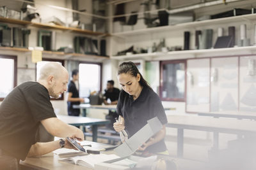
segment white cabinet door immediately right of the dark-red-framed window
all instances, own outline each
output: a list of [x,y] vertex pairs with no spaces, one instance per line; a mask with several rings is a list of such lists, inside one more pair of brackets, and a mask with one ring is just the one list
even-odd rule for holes
[[187,61],[187,112],[209,112],[210,59]]

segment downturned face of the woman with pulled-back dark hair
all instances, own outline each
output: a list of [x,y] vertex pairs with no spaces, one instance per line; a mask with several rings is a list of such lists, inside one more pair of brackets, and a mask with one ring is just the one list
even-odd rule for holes
[[122,73],[119,74],[117,78],[122,89],[129,95],[134,95],[140,90],[140,74],[134,77],[129,73]]

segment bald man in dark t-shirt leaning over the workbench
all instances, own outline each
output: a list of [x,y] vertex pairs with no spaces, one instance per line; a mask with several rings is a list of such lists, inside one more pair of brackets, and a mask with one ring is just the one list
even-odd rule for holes
[[15,87],[0,105],[0,151],[2,156],[25,160],[58,148],[70,148],[65,140],[38,143],[36,131],[41,123],[60,138],[84,139],[80,129],[67,125],[54,113],[50,96],[58,98],[67,91],[68,72],[56,62],[45,64],[37,82],[28,81]]

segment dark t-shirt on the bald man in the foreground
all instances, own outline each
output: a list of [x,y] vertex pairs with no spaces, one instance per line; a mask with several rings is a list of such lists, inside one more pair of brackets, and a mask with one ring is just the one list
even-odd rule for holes
[[15,87],[0,104],[0,148],[12,157],[24,160],[41,120],[56,117],[48,90],[28,81]]

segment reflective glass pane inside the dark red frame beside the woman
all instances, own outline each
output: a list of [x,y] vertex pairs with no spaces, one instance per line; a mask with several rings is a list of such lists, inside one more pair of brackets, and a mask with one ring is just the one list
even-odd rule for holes
[[166,99],[184,99],[185,64],[170,63],[163,65],[162,97]]

